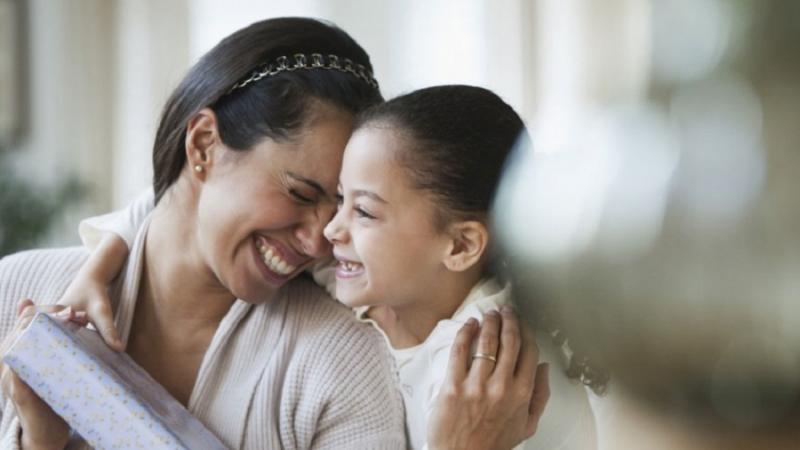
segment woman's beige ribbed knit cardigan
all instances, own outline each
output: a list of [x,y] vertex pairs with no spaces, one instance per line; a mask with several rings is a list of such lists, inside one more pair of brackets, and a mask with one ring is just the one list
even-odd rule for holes
[[[143,268],[146,228],[111,296],[127,339]],[[0,260],[0,338],[22,298],[55,303],[87,253],[34,250]],[[189,411],[232,449],[405,449],[404,414],[380,336],[313,282],[289,282],[262,305],[237,300],[206,351]],[[19,421],[4,399],[0,448],[18,448]],[[73,438],[68,448],[87,448]]]

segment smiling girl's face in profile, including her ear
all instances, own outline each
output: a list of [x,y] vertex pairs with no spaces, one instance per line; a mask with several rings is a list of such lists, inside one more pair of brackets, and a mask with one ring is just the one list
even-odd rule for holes
[[434,294],[446,270],[449,239],[434,225],[436,204],[397,162],[408,139],[367,126],[347,143],[339,210],[325,237],[338,260],[336,297],[350,307],[419,301]]

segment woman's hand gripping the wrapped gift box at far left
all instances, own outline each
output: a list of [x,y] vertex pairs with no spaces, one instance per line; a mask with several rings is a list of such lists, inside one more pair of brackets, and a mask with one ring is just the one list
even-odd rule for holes
[[[72,308],[52,305],[37,309],[33,301],[23,300],[17,305],[14,330],[2,343],[3,354],[37,312],[55,313],[58,320],[86,324],[86,315],[76,313]],[[3,395],[11,401],[19,417],[22,428],[20,445],[23,450],[64,448],[69,440],[69,426],[5,364],[0,366],[0,385]]]

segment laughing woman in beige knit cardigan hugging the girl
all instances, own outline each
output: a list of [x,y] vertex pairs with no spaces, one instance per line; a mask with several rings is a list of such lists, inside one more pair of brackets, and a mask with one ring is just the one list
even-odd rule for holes
[[[231,448],[405,448],[380,338],[297,277],[329,253],[322,228],[336,208],[353,114],[381,100],[371,72],[341,30],[268,20],[206,54],[164,109],[156,207],[112,287],[115,321],[133,359]],[[278,265],[264,249],[280,255]],[[54,303],[84,260],[75,249],[4,259],[0,334],[9,333],[13,302]],[[21,309],[17,329],[32,306]],[[481,338],[496,341],[498,328]],[[494,382],[469,371],[476,331],[465,327],[453,352],[454,389]],[[515,337],[505,333],[507,348]],[[506,353],[498,357],[515,358]],[[445,396],[432,447],[515,443],[527,425],[508,411],[530,395],[507,384],[491,398]],[[7,368],[3,390],[4,445],[82,445]]]

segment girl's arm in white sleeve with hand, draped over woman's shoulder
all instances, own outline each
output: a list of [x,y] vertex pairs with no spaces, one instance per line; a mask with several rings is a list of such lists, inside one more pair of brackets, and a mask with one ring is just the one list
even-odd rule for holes
[[114,326],[108,285],[122,271],[130,245],[152,209],[153,192],[148,189],[124,210],[82,221],[81,240],[92,252],[58,302],[86,311],[106,343],[116,350],[123,350],[123,344]]

